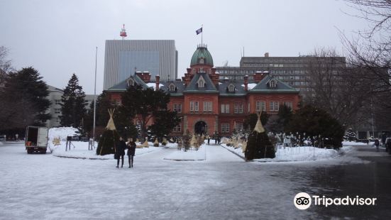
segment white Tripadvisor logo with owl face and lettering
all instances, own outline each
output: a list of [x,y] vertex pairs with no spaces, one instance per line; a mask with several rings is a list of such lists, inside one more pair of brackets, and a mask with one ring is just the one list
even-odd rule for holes
[[343,197],[343,198],[328,198],[325,196],[319,197],[316,195],[309,196],[309,194],[305,192],[299,192],[294,196],[293,204],[297,209],[308,209],[312,201],[314,201],[314,205],[316,206],[324,206],[328,207],[330,205],[336,205],[336,206],[374,206],[375,201],[377,198],[360,198],[358,196],[356,197]]

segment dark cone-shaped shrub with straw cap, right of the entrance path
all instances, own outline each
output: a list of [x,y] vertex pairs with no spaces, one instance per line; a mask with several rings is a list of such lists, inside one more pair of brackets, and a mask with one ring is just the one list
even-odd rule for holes
[[250,136],[248,136],[244,155],[246,160],[275,158],[275,148],[260,122],[260,116],[258,116],[258,121],[255,124],[254,130],[250,133]]

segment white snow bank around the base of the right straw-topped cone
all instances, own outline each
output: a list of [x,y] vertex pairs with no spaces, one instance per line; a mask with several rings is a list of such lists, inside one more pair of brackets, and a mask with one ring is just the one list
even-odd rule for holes
[[[244,153],[241,148],[235,149],[231,146],[227,146],[226,144],[222,144],[221,146],[244,158]],[[352,149],[351,146],[343,147],[340,149],[340,152],[338,153],[337,150],[326,149],[326,148],[314,148],[314,147],[307,147],[307,146],[305,147],[302,146],[297,148],[284,148],[282,146],[279,146],[277,147],[275,158],[256,159],[254,161],[283,162],[283,161],[327,160],[327,159],[335,158],[340,153],[348,152],[351,149]]]

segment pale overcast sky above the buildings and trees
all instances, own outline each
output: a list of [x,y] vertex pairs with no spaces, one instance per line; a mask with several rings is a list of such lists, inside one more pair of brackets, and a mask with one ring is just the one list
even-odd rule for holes
[[175,40],[182,76],[201,42],[195,31],[204,25],[204,43],[215,66],[238,66],[246,56],[298,56],[316,47],[342,53],[338,29],[353,35],[367,28],[348,16],[344,1],[212,0],[0,0],[0,45],[9,49],[13,67],[32,66],[45,82],[64,88],[73,72],[87,94],[94,93],[98,47],[97,94],[103,88],[104,42],[128,38]]

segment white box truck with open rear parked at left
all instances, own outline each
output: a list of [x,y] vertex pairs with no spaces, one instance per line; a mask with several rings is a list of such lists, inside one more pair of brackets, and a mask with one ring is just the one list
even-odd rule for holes
[[27,153],[46,153],[48,148],[48,128],[28,126],[24,140]]

